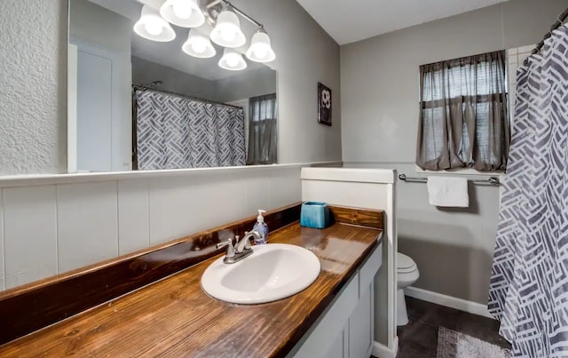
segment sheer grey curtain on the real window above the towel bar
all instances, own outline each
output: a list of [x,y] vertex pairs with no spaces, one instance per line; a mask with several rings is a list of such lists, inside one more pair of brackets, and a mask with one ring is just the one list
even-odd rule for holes
[[420,67],[416,164],[504,171],[509,152],[505,52]]

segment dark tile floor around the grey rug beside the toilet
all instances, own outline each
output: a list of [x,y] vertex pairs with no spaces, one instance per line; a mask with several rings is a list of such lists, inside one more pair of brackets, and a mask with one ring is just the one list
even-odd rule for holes
[[436,357],[439,326],[510,348],[499,335],[498,321],[410,297],[406,307],[409,322],[397,330],[398,358]]

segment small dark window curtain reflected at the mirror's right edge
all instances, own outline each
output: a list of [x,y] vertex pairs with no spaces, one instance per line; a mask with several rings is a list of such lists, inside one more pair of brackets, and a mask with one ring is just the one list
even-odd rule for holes
[[247,164],[277,161],[276,93],[249,99]]

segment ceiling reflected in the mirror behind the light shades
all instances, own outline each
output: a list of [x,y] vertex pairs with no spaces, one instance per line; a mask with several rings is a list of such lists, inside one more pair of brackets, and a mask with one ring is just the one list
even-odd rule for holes
[[[1,1],[1,0],[0,0]],[[116,12],[123,17],[130,19],[132,24],[138,20],[140,17],[140,10],[142,9],[142,4],[154,5],[154,7],[159,8],[163,3],[163,0],[89,0],[93,4],[98,4],[101,7],[110,10],[111,12]],[[173,26],[172,28],[176,32],[176,38],[168,43],[157,43],[154,41],[146,40],[132,31],[132,56],[137,56],[144,60],[149,60],[162,64],[163,66],[168,66],[170,68],[175,68],[178,71],[185,72],[194,76],[200,76],[209,81],[216,81],[224,79],[230,76],[238,76],[243,72],[252,71],[260,68],[270,67],[270,64],[262,64],[250,61],[246,59],[248,67],[241,71],[227,71],[223,68],[217,66],[218,60],[221,59],[223,55],[223,48],[221,46],[214,46],[217,49],[217,55],[210,59],[196,59],[189,55],[186,55],[181,51],[182,44],[185,43],[187,39],[187,33],[189,29],[178,28]],[[198,28],[204,34],[211,32],[211,26],[206,22],[200,28]],[[247,36],[249,40],[252,34],[256,30],[248,21],[241,21],[241,29]],[[238,51],[245,52],[246,47],[243,46]]]

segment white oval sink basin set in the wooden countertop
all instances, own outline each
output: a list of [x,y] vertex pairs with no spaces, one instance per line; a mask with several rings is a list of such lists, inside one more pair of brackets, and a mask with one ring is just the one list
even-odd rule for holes
[[240,304],[272,302],[310,286],[319,275],[312,251],[284,243],[253,246],[235,264],[215,260],[201,276],[201,287],[214,298]]

